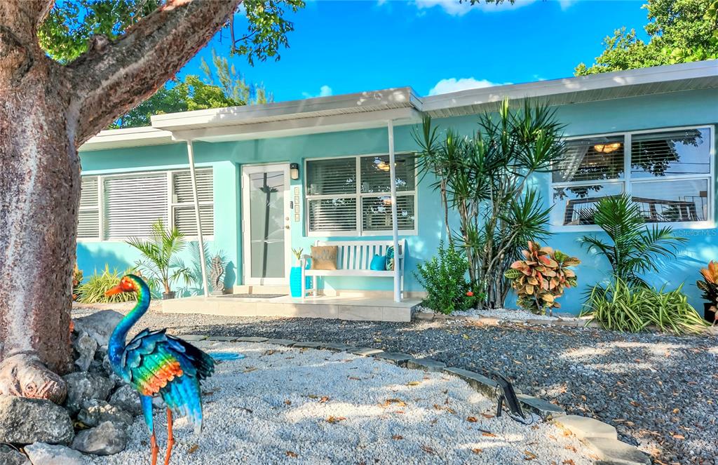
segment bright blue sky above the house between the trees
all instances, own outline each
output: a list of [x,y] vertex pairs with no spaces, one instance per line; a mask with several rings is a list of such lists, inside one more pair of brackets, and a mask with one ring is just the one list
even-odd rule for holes
[[[233,63],[264,83],[275,101],[411,86],[421,96],[491,83],[573,75],[592,63],[602,40],[622,26],[645,36],[644,1],[314,0],[289,14],[295,30],[281,60]],[[228,50],[227,32],[200,50],[180,75],[199,73],[210,47]]]

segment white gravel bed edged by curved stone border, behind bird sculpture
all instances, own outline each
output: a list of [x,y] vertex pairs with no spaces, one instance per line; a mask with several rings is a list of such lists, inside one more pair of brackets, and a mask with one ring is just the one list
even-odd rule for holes
[[[347,353],[198,345],[246,358],[219,364],[205,382],[200,436],[184,418],[175,421],[172,464],[592,463],[554,425],[493,418],[495,402],[456,377]],[[155,427],[162,455],[164,413],[156,411]],[[126,451],[90,463],[149,464],[141,417],[130,436]]]

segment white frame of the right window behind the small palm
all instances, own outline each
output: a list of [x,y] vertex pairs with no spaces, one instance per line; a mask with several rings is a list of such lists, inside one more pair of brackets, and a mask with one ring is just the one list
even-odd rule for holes
[[[632,157],[632,139],[637,134],[656,134],[660,132],[668,131],[681,131],[686,129],[708,129],[708,147],[709,147],[709,167],[710,171],[707,173],[694,175],[669,175],[661,178],[637,178],[636,180],[631,179],[631,157]],[[615,137],[623,136],[623,178],[600,180],[600,184],[618,184],[623,185],[623,192],[630,195],[634,184],[640,183],[651,183],[658,181],[668,180],[708,180],[708,208],[707,208],[707,219],[706,221],[673,221],[673,222],[662,222],[662,223],[647,223],[648,225],[661,225],[671,226],[673,229],[714,229],[715,224],[715,206],[714,206],[714,191],[715,191],[715,126],[714,124],[698,124],[694,126],[668,126],[662,128],[652,129],[640,129],[635,131],[621,131],[621,132],[606,132],[601,134],[585,134],[581,136],[566,137],[566,141],[581,140],[581,139],[592,139],[594,137]],[[572,186],[584,186],[584,185],[595,185],[598,184],[597,180],[581,180],[581,181],[570,181],[566,183],[554,183],[553,173],[549,173],[549,192],[546,198],[551,199],[551,204],[555,206],[553,201],[554,188],[568,188]],[[595,224],[574,224],[574,225],[556,225],[551,224],[549,221],[549,231],[551,232],[596,232],[601,231],[600,226]]]

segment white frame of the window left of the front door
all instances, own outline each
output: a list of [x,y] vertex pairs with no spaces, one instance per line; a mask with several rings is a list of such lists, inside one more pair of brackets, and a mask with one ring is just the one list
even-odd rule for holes
[[[95,173],[88,173],[86,175],[82,175],[82,178],[97,178],[97,185],[98,185],[98,208],[100,210],[99,214],[99,221],[100,221],[100,237],[98,238],[91,238],[91,237],[85,237],[85,238],[79,238],[77,239],[79,242],[107,242],[107,243],[123,243],[128,238],[124,239],[105,239],[105,198],[104,198],[104,190],[105,185],[104,182],[106,179],[117,179],[117,178],[136,178],[137,176],[142,175],[158,175],[158,174],[164,174],[167,177],[167,224],[170,225],[170,227],[174,226],[174,207],[176,206],[194,206],[194,203],[192,202],[179,202],[174,203],[172,202],[172,194],[174,193],[173,183],[172,183],[172,177],[174,173],[176,172],[189,172],[190,168],[176,168],[172,170],[143,170],[143,171],[128,171],[128,172],[118,172],[118,173],[108,173],[108,174],[95,174]],[[197,167],[197,171],[202,170],[214,170],[214,167],[212,166],[204,166],[204,167]],[[200,202],[200,207],[203,205],[214,205],[215,204],[215,188],[214,188],[214,172],[213,172],[213,186],[212,186],[212,201],[211,202]],[[91,208],[85,208],[85,209],[91,209]],[[216,228],[216,224],[213,224],[213,231]],[[213,241],[215,239],[214,234],[210,235],[203,235],[202,238],[205,241]],[[143,238],[146,239],[146,238]],[[185,241],[197,241],[199,238],[197,236],[185,236]]]

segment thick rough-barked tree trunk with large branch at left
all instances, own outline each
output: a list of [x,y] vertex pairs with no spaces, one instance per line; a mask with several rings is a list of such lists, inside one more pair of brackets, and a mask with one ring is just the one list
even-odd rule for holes
[[240,1],[168,0],[67,66],[37,42],[52,1],[0,1],[0,394],[65,396],[78,147],[177,73]]

